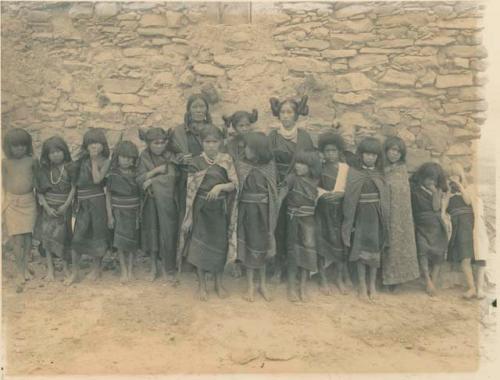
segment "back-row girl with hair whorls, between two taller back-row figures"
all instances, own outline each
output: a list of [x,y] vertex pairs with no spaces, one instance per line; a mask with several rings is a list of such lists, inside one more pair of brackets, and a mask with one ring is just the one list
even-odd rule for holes
[[245,157],[244,135],[252,130],[252,124],[255,124],[258,118],[256,109],[252,112],[237,111],[231,116],[222,116],[226,130],[232,126],[236,134],[231,137],[226,145],[227,152],[237,161]]

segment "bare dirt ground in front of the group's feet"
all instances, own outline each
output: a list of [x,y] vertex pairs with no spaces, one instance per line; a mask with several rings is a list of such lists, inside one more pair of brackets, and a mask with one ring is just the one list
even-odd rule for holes
[[139,258],[139,279],[121,285],[113,264],[96,283],[65,287],[61,272],[42,280],[35,257],[37,279],[17,294],[4,255],[7,375],[448,372],[474,371],[480,355],[492,360],[484,336],[495,335],[494,311],[488,300],[462,300],[460,288],[431,300],[411,284],[366,304],[352,290],[324,296],[312,281],[308,304],[290,304],[284,284],[273,286],[273,302],[251,304],[245,280],[228,276],[230,298],[212,292],[202,303],[192,273],[178,287],[150,283]]

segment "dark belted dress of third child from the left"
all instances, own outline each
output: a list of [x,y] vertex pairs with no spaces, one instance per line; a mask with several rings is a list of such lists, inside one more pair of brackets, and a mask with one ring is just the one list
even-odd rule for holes
[[77,211],[72,241],[78,254],[96,255],[109,248],[104,184],[105,180],[94,184],[90,159],[82,159],[76,181]]

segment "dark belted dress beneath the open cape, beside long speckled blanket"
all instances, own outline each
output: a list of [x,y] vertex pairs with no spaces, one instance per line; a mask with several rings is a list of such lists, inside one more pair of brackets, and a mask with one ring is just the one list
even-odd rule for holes
[[351,247],[349,261],[361,261],[370,267],[380,267],[384,227],[380,194],[371,179],[366,179],[361,188]]

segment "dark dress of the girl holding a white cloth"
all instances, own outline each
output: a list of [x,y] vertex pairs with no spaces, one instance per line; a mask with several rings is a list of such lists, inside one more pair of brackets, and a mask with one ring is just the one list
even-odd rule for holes
[[[338,165],[325,165],[319,187],[332,191],[337,182],[338,171]],[[347,250],[342,242],[342,219],[342,199],[329,201],[319,198],[316,206],[318,254],[325,258],[327,265],[347,261]]]

